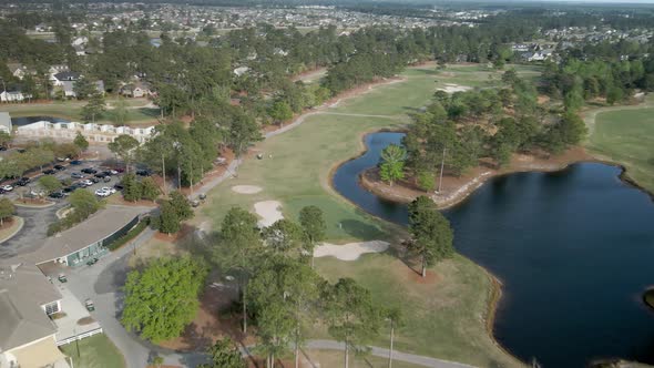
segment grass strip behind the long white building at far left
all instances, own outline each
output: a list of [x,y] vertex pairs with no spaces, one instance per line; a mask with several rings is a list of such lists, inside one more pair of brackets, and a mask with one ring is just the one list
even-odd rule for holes
[[[115,100],[108,99],[109,104]],[[142,99],[126,100],[127,105],[133,108],[127,110],[127,125],[143,125],[155,123],[160,115],[159,109],[146,108],[147,102]],[[9,112],[12,117],[21,116],[53,116],[67,119],[70,121],[81,121],[81,110],[85,105],[81,101],[65,101],[52,103],[20,103],[7,104],[0,108],[1,111]],[[112,124],[111,110],[104,112],[96,120],[98,123]]]

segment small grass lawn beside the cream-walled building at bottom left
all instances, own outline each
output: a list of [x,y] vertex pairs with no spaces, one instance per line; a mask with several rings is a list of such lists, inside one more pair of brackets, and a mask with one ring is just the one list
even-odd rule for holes
[[93,335],[79,341],[80,356],[75,343],[61,346],[61,350],[73,358],[75,368],[124,368],[125,358],[104,334]]

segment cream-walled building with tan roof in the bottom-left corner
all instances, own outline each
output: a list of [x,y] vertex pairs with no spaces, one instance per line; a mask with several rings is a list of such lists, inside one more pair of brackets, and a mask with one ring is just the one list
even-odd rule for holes
[[57,346],[61,294],[37,266],[0,264],[0,368],[70,367]]

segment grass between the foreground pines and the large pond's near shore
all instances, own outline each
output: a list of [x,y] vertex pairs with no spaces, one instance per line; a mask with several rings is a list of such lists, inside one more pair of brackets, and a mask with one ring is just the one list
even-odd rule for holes
[[[479,266],[467,258],[457,256],[438,264],[423,284],[405,263],[389,254],[365,255],[354,264],[318,258],[316,269],[331,282],[355,278],[371,292],[377,305],[399,307],[406,320],[405,327],[396,331],[399,351],[478,367],[518,365],[488,336],[484,318],[492,285]],[[317,334],[329,338],[325,331]],[[382,329],[372,344],[387,347],[388,330]]]

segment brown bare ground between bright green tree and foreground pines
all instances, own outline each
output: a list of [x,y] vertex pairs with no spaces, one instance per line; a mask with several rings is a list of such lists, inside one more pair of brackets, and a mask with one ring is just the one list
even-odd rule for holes
[[216,339],[225,336],[242,346],[255,343],[252,335],[242,333],[239,315],[229,311],[238,298],[235,283],[219,282],[216,275],[212,275],[210,279],[193,321],[181,337],[164,341],[161,346],[181,351],[205,351]]

